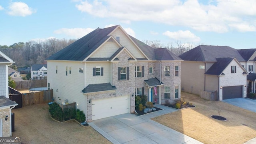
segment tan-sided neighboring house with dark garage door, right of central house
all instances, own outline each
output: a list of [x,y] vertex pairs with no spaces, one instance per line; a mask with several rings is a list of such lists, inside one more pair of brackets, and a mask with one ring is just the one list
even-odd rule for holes
[[218,99],[246,97],[248,72],[240,53],[229,46],[197,46],[179,56],[182,91],[198,94],[216,91]]

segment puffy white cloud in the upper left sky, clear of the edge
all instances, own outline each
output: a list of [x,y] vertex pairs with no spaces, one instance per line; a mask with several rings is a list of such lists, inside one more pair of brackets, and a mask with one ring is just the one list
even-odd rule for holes
[[36,10],[28,7],[24,2],[11,2],[7,13],[11,16],[28,16],[35,12]]

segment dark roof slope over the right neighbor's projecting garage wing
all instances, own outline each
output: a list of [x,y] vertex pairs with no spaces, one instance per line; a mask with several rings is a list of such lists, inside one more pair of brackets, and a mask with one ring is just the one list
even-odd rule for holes
[[215,62],[205,74],[220,75],[234,58],[216,58]]

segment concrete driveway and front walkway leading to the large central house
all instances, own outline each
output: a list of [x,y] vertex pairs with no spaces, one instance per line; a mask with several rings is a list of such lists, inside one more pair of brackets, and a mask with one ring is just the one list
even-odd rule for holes
[[156,116],[177,111],[163,105],[154,105],[162,110],[136,116],[121,114],[88,123],[114,144],[202,144],[180,132],[150,120]]

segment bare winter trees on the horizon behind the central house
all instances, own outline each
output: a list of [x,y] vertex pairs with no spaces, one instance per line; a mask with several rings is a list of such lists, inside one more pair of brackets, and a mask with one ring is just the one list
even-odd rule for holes
[[[16,63],[12,65],[14,69],[17,67],[32,66],[33,64],[43,64],[44,60],[55,54],[59,50],[75,42],[76,39],[56,39],[51,38],[45,41],[30,41],[30,42],[18,42],[10,46],[1,46],[0,51],[6,54],[9,58]],[[182,43],[176,41],[174,46],[172,43],[161,44],[160,40],[143,40],[145,44],[148,44],[152,48],[168,48],[172,53],[177,56],[192,49],[194,45],[192,43]]]

